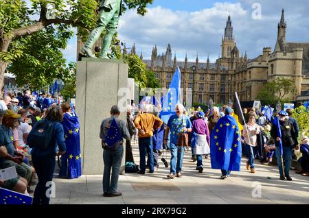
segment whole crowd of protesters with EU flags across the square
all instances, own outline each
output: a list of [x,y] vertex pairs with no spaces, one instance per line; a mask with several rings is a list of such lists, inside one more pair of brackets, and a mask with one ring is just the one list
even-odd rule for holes
[[[308,136],[300,135],[291,109],[244,108],[240,116],[235,104],[213,106],[205,112],[200,107],[187,111],[179,103],[173,106],[174,113],[166,116],[144,98],[139,106],[127,106],[126,121],[119,119],[118,106],[111,106],[111,117],[100,126],[104,197],[122,195],[117,182],[123,156],[126,172],[141,175],[155,173],[161,160],[164,167],[170,167],[168,179],[183,177],[185,152],[191,152],[196,173],[205,173],[203,160],[210,158],[211,168],[220,169],[222,180],[229,178],[231,171],[240,171],[242,158],[247,158],[249,173],[255,173],[254,160],[258,159],[263,165],[277,165],[279,180],[290,181],[295,159],[301,164],[297,173],[309,175]],[[56,156],[61,155],[59,178],[82,174],[80,126],[73,105],[60,97],[45,93],[35,97],[25,90],[24,95],[8,93],[0,101],[0,111],[0,169],[14,166],[18,175],[0,180],[0,186],[26,195],[34,193],[33,204],[49,204],[45,184],[53,179]],[[139,163],[133,157],[133,142],[138,143]],[[170,152],[170,161],[163,158],[165,152]],[[36,185],[35,191],[32,185]]]

